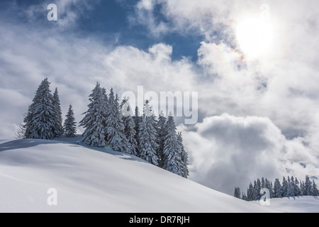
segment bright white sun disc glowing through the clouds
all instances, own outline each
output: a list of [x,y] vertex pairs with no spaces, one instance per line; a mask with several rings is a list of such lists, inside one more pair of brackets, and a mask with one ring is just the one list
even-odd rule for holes
[[273,28],[270,21],[245,18],[237,23],[235,34],[240,50],[247,57],[262,57],[272,48]]

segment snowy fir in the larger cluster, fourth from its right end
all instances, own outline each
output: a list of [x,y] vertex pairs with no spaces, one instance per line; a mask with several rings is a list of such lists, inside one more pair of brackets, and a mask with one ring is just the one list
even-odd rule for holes
[[155,137],[150,135],[149,132],[150,124],[152,126],[152,122],[147,120],[147,116],[142,116],[142,121],[140,121],[138,126],[139,155],[147,162],[158,165],[158,157],[156,155],[157,146],[155,145]]

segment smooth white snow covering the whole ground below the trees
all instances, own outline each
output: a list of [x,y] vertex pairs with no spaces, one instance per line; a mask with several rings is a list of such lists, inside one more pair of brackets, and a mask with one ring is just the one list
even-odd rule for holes
[[[61,140],[0,141],[0,212],[318,212],[313,197],[261,206],[132,155]],[[47,204],[51,188],[57,206]]]

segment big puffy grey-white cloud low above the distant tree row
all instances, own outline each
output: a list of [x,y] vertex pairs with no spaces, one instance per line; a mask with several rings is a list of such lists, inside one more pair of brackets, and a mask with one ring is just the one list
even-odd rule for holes
[[[293,175],[319,177],[318,157],[301,138],[286,140],[269,118],[211,116],[183,131],[191,179],[221,192],[243,192],[254,179]],[[306,165],[303,167],[302,165]]]

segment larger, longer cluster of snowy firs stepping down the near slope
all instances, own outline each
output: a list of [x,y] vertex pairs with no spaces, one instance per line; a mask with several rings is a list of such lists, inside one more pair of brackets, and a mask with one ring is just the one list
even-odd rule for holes
[[181,177],[189,175],[188,156],[172,114],[168,118],[160,114],[157,120],[145,101],[142,116],[137,108],[133,115],[128,99],[124,98],[120,104],[118,94],[113,89],[106,94],[99,82],[89,101],[88,110],[79,122],[84,128],[84,143],[96,147],[110,145],[115,151],[136,155]]

